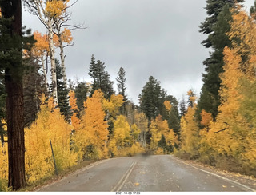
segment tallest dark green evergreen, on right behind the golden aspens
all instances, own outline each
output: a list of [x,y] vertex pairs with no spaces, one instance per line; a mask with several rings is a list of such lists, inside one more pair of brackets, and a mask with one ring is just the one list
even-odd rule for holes
[[243,0],[207,0],[206,10],[208,17],[201,23],[200,32],[208,34],[208,38],[202,41],[206,48],[212,48],[210,58],[203,62],[206,66],[206,73],[202,74],[201,97],[198,101],[198,113],[205,109],[206,112],[212,113],[215,118],[218,114],[218,105],[220,105],[220,96],[218,91],[221,86],[219,74],[223,72],[223,49],[230,46],[231,41],[226,33],[230,30],[230,21],[232,14],[230,8],[235,2],[244,2]]

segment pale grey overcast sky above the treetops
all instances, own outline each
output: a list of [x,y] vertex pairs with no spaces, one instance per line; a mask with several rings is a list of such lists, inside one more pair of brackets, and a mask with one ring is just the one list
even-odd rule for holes
[[[253,3],[246,0],[245,6]],[[200,44],[206,35],[198,32],[205,6],[205,0],[78,0],[70,23],[84,22],[87,29],[73,31],[74,46],[65,50],[68,78],[91,82],[94,54],[106,63],[112,81],[121,66],[126,70],[128,98],[136,104],[151,75],[178,100],[190,88],[199,95],[202,61],[209,56]],[[37,17],[28,12],[22,17],[23,25],[46,33]]]

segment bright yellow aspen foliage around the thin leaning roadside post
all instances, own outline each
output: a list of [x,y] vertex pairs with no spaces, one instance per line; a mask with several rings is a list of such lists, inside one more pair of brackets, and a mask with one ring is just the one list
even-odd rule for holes
[[26,180],[38,181],[54,173],[54,162],[50,149],[52,141],[57,169],[62,170],[76,164],[77,155],[70,150],[72,127],[65,121],[59,109],[55,109],[53,98],[42,96],[38,119],[25,129]]

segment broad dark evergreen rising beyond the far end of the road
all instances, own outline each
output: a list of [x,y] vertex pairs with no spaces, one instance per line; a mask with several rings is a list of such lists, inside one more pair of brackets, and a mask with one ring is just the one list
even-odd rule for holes
[[142,94],[139,95],[140,107],[149,121],[160,113],[161,92],[160,82],[153,76],[150,76],[149,81],[143,87]]

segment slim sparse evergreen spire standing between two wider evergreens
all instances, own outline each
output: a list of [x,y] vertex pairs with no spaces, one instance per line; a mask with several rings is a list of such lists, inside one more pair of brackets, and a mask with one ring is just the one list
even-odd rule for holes
[[121,108],[121,113],[124,115],[126,114],[126,71],[121,67],[118,71],[118,78],[116,78],[118,82],[118,94],[121,94],[123,97],[123,105]]

